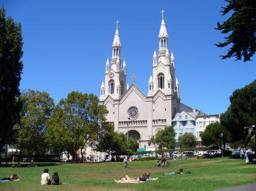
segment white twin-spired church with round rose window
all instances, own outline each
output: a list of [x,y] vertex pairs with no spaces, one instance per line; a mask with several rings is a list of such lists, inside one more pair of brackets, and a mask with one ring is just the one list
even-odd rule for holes
[[[127,64],[121,59],[121,40],[117,29],[112,43],[112,57],[105,64],[105,80],[100,88],[100,104],[108,109],[107,121],[115,131],[134,137],[139,148],[154,148],[150,138],[159,129],[172,125],[172,119],[181,111],[193,112],[193,108],[181,103],[179,83],[175,76],[174,53],[169,52],[168,33],[164,10],[158,35],[159,48],[152,57],[152,75],[145,95],[132,83],[127,83]],[[133,76],[135,77],[135,76]],[[198,110],[197,110],[198,111]]]

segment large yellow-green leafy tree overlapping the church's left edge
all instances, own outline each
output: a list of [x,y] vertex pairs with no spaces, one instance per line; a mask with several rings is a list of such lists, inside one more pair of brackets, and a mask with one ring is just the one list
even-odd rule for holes
[[[72,91],[67,98],[59,101],[54,115],[49,120],[49,131],[47,132],[49,144],[54,145],[55,139],[51,139],[51,137],[58,136],[59,144],[67,140],[65,149],[74,159],[77,159],[79,149],[82,155],[81,159],[83,159],[87,147],[94,145],[97,141],[99,122],[105,120],[107,112],[103,105],[99,105],[97,96]],[[61,137],[58,132],[52,132],[55,126],[65,137]],[[51,148],[54,149],[52,146]]]

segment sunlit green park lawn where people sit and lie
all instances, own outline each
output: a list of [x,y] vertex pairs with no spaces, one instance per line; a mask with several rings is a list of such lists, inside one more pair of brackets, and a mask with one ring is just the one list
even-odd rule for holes
[[[0,190],[215,190],[256,182],[256,165],[240,159],[217,158],[171,161],[170,168],[153,168],[155,161],[130,162],[127,169],[122,162],[83,164],[41,164],[38,168],[0,168],[0,178],[17,173],[20,181],[0,183]],[[45,168],[50,176],[57,171],[64,185],[40,185]],[[191,170],[191,174],[162,176],[172,170]],[[115,183],[114,179],[151,173],[158,180],[132,184]]]

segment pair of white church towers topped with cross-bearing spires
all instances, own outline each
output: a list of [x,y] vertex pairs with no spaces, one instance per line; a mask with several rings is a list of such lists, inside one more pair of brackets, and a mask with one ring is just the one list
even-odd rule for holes
[[[153,72],[148,81],[148,96],[154,96],[158,90],[161,90],[162,93],[167,95],[175,93],[179,98],[178,79],[175,79],[174,54],[172,52],[170,54],[168,49],[168,33],[164,21],[164,12],[165,11],[162,9],[162,21],[158,35],[159,49],[158,52],[155,50],[153,54]],[[118,31],[119,21],[115,23],[117,24],[117,28],[112,43],[111,66],[109,65],[109,59],[107,59],[105,66],[105,82],[102,81],[101,84],[100,101],[104,101],[108,95],[114,98],[114,100],[118,100],[128,88],[126,81],[127,64],[125,60],[121,69],[121,40]]]

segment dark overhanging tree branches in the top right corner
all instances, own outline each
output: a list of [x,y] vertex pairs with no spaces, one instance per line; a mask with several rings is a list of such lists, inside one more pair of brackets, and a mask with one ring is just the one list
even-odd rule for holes
[[231,13],[230,18],[223,23],[217,23],[217,30],[229,34],[224,37],[225,42],[219,42],[216,46],[230,46],[228,53],[221,56],[222,59],[235,57],[244,62],[251,60],[255,53],[255,32],[256,32],[256,1],[255,0],[225,0],[228,5],[222,7],[222,16]]

